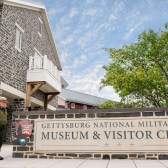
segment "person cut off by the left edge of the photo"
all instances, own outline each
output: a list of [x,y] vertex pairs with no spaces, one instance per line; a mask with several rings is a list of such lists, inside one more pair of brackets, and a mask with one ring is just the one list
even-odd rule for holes
[[[4,97],[0,97],[0,151],[3,144],[5,126],[7,124],[7,100]],[[3,160],[3,157],[0,156],[0,160]]]

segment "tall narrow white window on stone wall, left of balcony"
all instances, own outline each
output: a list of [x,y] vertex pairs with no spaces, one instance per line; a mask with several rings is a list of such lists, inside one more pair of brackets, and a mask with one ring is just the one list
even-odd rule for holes
[[16,23],[16,40],[15,40],[15,48],[21,52],[22,49],[22,36],[24,30]]

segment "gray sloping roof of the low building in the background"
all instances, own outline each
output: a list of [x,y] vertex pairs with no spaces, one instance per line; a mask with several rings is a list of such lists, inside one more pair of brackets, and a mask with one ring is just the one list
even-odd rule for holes
[[104,99],[101,97],[77,92],[74,90],[69,89],[63,89],[62,92],[58,95],[65,101],[74,102],[74,103],[81,103],[86,105],[92,105],[92,106],[98,106],[106,101],[108,99]]

